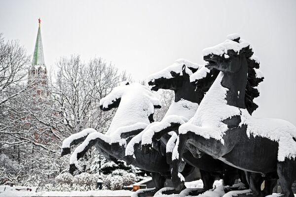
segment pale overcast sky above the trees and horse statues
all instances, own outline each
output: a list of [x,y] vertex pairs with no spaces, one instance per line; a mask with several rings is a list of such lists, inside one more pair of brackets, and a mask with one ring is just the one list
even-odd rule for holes
[[[0,32],[33,53],[37,19],[45,63],[99,56],[136,80],[239,33],[252,43],[265,80],[257,117],[296,125],[295,0],[1,0]],[[53,66],[54,67],[54,66]]]

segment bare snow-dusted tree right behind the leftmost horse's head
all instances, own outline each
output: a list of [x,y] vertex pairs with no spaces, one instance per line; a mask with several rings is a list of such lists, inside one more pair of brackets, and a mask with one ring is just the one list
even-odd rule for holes
[[118,84],[117,68],[101,58],[85,64],[77,55],[61,58],[57,66],[59,72],[53,95],[60,106],[67,134],[89,127],[105,130],[113,112],[102,112],[99,101]]

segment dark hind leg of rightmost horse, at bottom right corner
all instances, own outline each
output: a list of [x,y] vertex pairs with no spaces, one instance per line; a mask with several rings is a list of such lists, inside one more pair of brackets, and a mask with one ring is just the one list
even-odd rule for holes
[[278,162],[277,173],[282,187],[282,193],[286,197],[294,197],[292,184],[296,178],[296,161],[286,159],[284,162]]

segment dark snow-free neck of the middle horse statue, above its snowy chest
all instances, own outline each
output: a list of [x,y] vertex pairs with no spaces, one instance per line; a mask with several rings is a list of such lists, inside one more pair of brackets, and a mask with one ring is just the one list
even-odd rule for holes
[[183,80],[182,86],[176,88],[175,92],[175,102],[178,102],[181,99],[185,99],[191,102],[200,103],[201,97],[195,91],[195,86],[190,83],[189,76],[185,77]]

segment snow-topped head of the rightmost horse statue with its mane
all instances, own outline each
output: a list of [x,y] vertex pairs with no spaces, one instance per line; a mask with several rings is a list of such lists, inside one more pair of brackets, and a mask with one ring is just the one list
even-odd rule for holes
[[229,36],[227,38],[221,44],[203,50],[204,60],[207,62],[205,67],[222,71],[227,76],[231,75],[229,77],[231,80],[225,79],[222,82],[228,89],[236,91],[235,94],[228,94],[228,97],[233,96],[229,101],[241,97],[241,104],[238,106],[245,106],[243,108],[247,108],[252,114],[258,108],[253,101],[254,98],[259,97],[256,87],[264,78],[258,69],[259,60],[253,55],[250,43],[241,40],[239,35],[231,39]]

